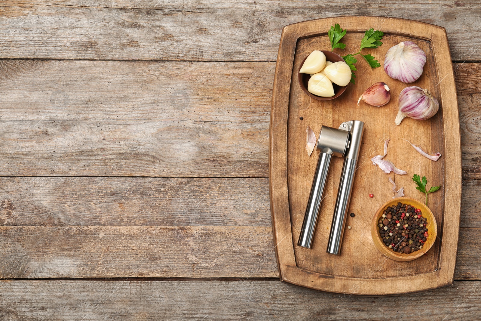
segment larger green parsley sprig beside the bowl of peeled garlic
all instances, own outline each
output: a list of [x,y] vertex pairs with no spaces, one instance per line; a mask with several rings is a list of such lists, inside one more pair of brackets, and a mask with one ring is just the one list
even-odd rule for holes
[[[342,30],[339,24],[335,24],[334,26],[331,26],[331,28],[328,31],[328,37],[331,42],[332,50],[334,50],[335,48],[339,48],[339,49],[346,48],[346,44],[339,42],[342,39],[342,37],[345,36],[346,32],[347,30]],[[381,66],[379,61],[377,61],[374,56],[372,56],[369,53],[365,55],[361,54],[361,50],[363,50],[364,48],[374,49],[374,48],[380,47],[380,45],[382,45],[382,42],[380,40],[382,39],[383,36],[384,36],[384,33],[382,31],[374,30],[373,28],[370,28],[369,30],[366,30],[366,32],[364,33],[363,39],[361,39],[361,45],[359,47],[359,51],[356,53],[350,53],[345,56],[342,56],[342,59],[344,59],[346,64],[349,65],[349,68],[351,68],[351,73],[352,73],[351,82],[353,84],[355,84],[354,78],[356,77],[354,75],[354,71],[357,70],[357,68],[354,66],[354,64],[357,63],[357,59],[354,58],[355,55],[360,54],[361,56],[363,56],[363,58],[367,61],[367,63],[369,64],[369,66],[371,66],[371,68],[377,68]]]

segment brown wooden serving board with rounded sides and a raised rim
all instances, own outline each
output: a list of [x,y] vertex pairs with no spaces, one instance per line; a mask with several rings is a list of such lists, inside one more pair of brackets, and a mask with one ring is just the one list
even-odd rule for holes
[[[369,28],[384,32],[383,45],[365,49],[379,60],[381,67],[371,69],[362,57],[356,67],[356,84],[349,84],[344,94],[331,101],[317,101],[299,86],[300,63],[314,50],[330,50],[327,31],[339,23],[347,29],[342,42],[345,51],[358,51],[364,31]],[[405,84],[386,75],[383,69],[386,51],[400,41],[412,40],[426,52],[427,62],[422,76]],[[383,107],[364,102],[358,97],[370,85],[384,81],[391,89],[391,101]],[[405,118],[394,124],[398,97],[408,86],[428,89],[440,103],[439,112],[428,120]],[[300,119],[303,117],[303,120]],[[322,125],[337,128],[343,121],[365,123],[364,137],[340,256],[326,253],[329,229],[342,169],[342,158],[332,157],[329,179],[312,249],[297,246],[304,211],[316,169],[318,152],[309,157],[305,151],[306,127],[319,137]],[[406,175],[385,174],[370,158],[383,154],[384,141],[391,138],[386,159],[406,170]],[[418,154],[403,139],[423,146],[428,152],[440,152],[431,161]],[[438,237],[423,257],[398,262],[384,257],[374,246],[370,223],[377,209],[391,199],[391,176],[397,188],[404,187],[405,196],[424,200],[415,189],[413,174],[425,175],[428,187],[442,185],[429,196],[428,205],[438,224]],[[281,281],[312,289],[353,294],[392,295],[425,291],[452,284],[456,264],[461,200],[461,148],[456,87],[451,56],[444,28],[418,21],[372,16],[344,16],[317,19],[285,26],[279,45],[269,141],[269,180],[272,226]],[[368,194],[374,197],[369,198]]]

